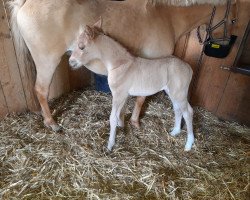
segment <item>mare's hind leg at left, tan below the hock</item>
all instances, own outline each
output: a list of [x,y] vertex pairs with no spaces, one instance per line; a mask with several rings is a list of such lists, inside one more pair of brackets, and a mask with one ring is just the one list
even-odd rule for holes
[[44,124],[52,128],[53,131],[58,131],[60,127],[56,124],[56,122],[52,118],[48,105],[48,95],[49,95],[49,86],[51,84],[55,69],[60,62],[60,57],[55,59],[44,58],[44,59],[34,59],[34,60],[36,63],[36,70],[37,70],[35,91],[42,109]]

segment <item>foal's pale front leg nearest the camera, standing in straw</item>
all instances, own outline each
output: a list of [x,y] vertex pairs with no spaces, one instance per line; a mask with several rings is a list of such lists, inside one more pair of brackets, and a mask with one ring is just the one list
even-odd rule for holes
[[111,151],[112,147],[115,144],[116,136],[116,126],[118,122],[121,121],[121,110],[124,107],[124,104],[127,100],[127,96],[113,96],[112,100],[112,111],[110,115],[110,135],[108,141],[108,150]]

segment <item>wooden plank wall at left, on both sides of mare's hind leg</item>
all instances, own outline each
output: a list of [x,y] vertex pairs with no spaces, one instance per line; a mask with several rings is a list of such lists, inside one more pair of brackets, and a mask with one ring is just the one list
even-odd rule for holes
[[[6,3],[7,0],[4,0]],[[11,38],[9,16],[0,2],[0,117],[7,113],[25,110],[37,111],[39,104],[34,93],[35,68],[18,58],[16,45]],[[58,66],[51,86],[49,99],[90,85],[90,72],[81,68],[72,71],[65,55]]]

